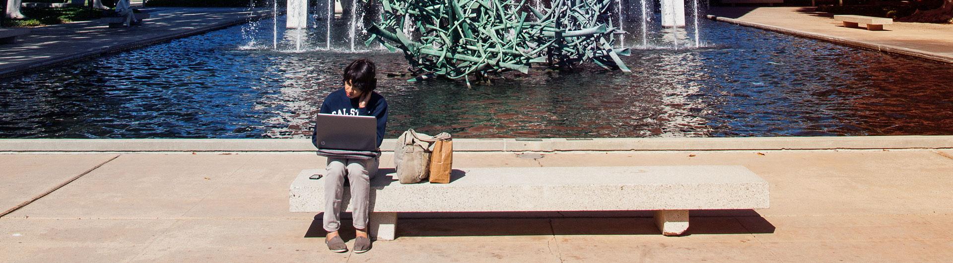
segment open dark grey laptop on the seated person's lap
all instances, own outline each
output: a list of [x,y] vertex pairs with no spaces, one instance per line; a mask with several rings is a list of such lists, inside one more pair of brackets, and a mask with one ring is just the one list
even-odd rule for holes
[[377,118],[318,113],[314,119],[318,149],[377,151]]

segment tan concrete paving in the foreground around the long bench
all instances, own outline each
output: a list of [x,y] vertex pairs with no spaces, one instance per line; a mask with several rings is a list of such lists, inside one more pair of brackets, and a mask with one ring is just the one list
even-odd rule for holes
[[[75,262],[953,258],[953,151],[543,154],[524,159],[516,152],[459,152],[455,166],[743,165],[770,183],[771,208],[693,212],[690,234],[681,237],[658,234],[649,214],[639,212],[410,214],[401,215],[394,241],[375,242],[369,253],[330,253],[321,242],[319,217],[288,212],[294,176],[323,166],[324,159],[313,153],[0,154],[0,211],[102,164],[0,218],[0,257],[12,262],[64,256]],[[389,166],[391,158],[385,154],[382,163]],[[506,218],[514,216],[521,218]]]

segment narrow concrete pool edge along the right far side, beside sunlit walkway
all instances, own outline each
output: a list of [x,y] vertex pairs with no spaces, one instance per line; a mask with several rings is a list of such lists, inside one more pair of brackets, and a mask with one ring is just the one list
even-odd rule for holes
[[716,16],[711,14],[708,14],[705,16],[711,20],[731,23],[731,24],[744,26],[744,27],[751,27],[751,28],[756,28],[760,30],[778,31],[781,33],[808,37],[808,38],[818,39],[821,41],[832,42],[832,43],[847,45],[847,46],[856,47],[856,48],[862,48],[866,50],[908,55],[908,56],[914,56],[914,57],[929,59],[933,61],[953,64],[953,56],[944,55],[944,54],[936,53],[936,52],[920,51],[920,50],[908,49],[908,48],[903,48],[903,47],[898,47],[893,45],[882,45],[882,44],[876,44],[876,43],[865,42],[865,41],[850,40],[850,39],[836,37],[836,36],[832,36],[828,34],[815,33],[815,32],[803,31],[803,30],[785,29],[785,28],[781,28],[777,26],[765,25],[765,24],[755,23],[755,22],[747,22],[747,21],[742,21],[740,19]]

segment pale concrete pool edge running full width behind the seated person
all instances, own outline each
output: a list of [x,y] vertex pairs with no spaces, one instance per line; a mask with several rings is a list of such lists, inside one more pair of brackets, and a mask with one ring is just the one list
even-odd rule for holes
[[[391,152],[395,139],[381,150]],[[457,152],[953,149],[953,135],[456,139]],[[0,152],[314,152],[311,139],[0,139]]]

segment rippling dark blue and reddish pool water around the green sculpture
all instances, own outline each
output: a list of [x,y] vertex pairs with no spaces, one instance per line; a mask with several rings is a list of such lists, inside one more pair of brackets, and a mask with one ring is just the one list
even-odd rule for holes
[[359,57],[378,65],[389,137],[953,134],[953,65],[726,23],[703,22],[705,48],[633,51],[631,74],[537,70],[472,89],[387,77],[402,54],[320,51],[323,33],[270,51],[269,23],[0,79],[0,137],[302,137]]

